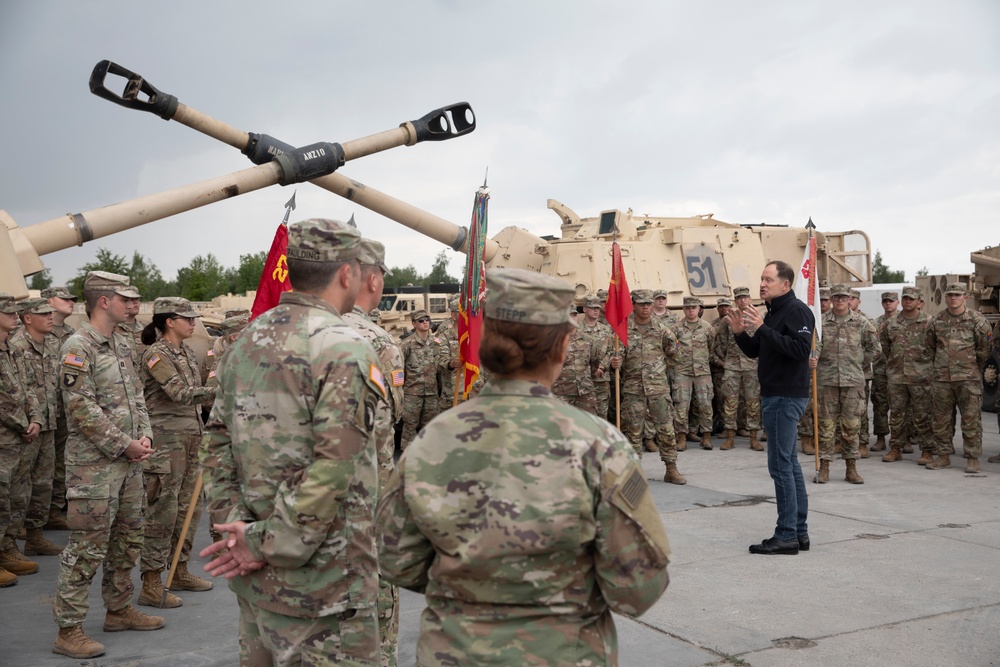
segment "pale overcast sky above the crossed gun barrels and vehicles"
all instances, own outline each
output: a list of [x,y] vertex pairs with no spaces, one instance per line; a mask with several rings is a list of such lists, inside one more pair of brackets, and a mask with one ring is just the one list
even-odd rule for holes
[[[1000,243],[1000,2],[111,2],[0,4],[0,208],[28,226],[250,163],[90,94],[110,59],[181,102],[288,143],[348,141],[468,101],[478,128],[350,162],[351,178],[457,224],[489,168],[491,235],[557,234],[632,208],[862,229],[912,279]],[[389,265],[441,247],[309,184],[292,220],[356,216]],[[266,250],[272,187],[99,247],[171,279],[196,254]],[[458,274],[464,256],[452,254]]]

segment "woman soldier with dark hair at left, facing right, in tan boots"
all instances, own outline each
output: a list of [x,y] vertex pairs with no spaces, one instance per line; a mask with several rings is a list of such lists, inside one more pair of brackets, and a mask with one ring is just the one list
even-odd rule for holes
[[[142,464],[146,482],[145,540],[142,545],[142,592],[139,604],[159,607],[161,574],[170,564],[198,477],[201,446],[201,404],[215,397],[202,386],[201,369],[185,340],[201,317],[187,299],[162,297],[153,302],[153,321],[142,330],[142,375],[146,409],[153,427],[153,454]],[[207,591],[212,583],[188,572],[194,527],[201,499],[171,582],[172,590]],[[164,607],[179,607],[181,599],[167,593]]]

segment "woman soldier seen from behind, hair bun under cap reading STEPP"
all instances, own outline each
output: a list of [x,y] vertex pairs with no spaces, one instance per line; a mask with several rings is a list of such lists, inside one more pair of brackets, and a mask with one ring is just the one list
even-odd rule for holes
[[419,665],[617,664],[611,612],[642,614],[668,582],[663,524],[621,433],[547,386],[572,287],[521,269],[486,280],[494,378],[399,460],[383,571],[426,594]]

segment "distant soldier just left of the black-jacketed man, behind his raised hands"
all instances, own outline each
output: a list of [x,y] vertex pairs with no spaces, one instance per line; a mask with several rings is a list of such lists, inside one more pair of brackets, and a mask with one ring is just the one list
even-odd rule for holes
[[[737,287],[733,290],[737,310],[745,310],[751,306],[750,288]],[[753,335],[753,329],[748,329],[748,335]],[[760,429],[760,380],[757,378],[757,360],[751,359],[739,345],[733,335],[729,322],[719,318],[716,330],[713,352],[722,361],[722,395],[723,414],[725,418],[726,441],[721,449],[732,449],[736,436],[736,412],[740,399],[746,406],[746,426],[750,435],[750,449],[764,451],[764,446],[757,439]]]

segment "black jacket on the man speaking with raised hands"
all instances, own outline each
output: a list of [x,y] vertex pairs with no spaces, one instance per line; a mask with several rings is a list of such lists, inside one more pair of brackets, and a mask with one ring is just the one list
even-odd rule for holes
[[809,353],[816,319],[791,291],[766,306],[761,328],[753,336],[739,334],[736,344],[748,357],[760,360],[761,396],[809,398]]

